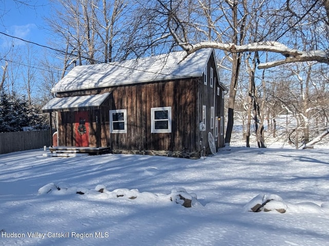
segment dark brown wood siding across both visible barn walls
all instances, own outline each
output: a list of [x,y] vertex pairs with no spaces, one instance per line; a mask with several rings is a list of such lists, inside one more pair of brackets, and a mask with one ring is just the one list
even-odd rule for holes
[[[213,85],[211,86],[211,68]],[[110,147],[112,150],[157,150],[200,152],[206,147],[210,153],[208,133],[215,138],[216,148],[224,146],[224,122],[218,121],[218,136],[215,136],[215,117],[224,119],[223,87],[217,73],[213,53],[207,64],[207,85],[204,76],[157,81],[111,88],[58,93],[58,97],[82,96],[111,92],[97,109],[89,111],[89,146]],[[219,90],[217,93],[217,90]],[[200,131],[203,106],[206,106],[206,130]],[[151,108],[171,107],[172,132],[151,133]],[[211,107],[214,107],[211,128]],[[110,133],[109,110],[126,110],[127,132]],[[75,146],[74,112],[59,112],[59,145]],[[223,120],[224,121],[224,120]]]

